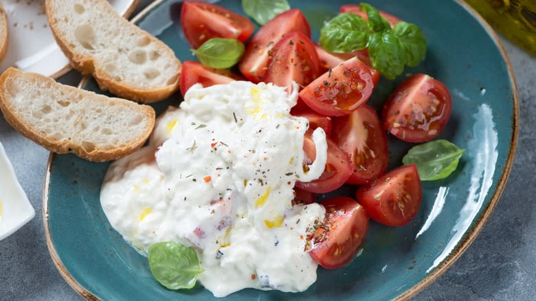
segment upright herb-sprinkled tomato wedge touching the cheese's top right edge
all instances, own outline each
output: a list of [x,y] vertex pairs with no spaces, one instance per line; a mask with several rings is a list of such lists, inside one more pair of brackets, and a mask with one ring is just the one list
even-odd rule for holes
[[293,81],[301,87],[320,76],[320,59],[311,39],[301,32],[285,34],[269,51],[265,82],[289,87]]

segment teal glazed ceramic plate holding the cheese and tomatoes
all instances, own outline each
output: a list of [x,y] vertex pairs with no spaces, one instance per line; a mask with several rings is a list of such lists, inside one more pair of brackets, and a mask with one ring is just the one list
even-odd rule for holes
[[[445,82],[454,101],[442,138],[465,148],[458,170],[448,179],[424,183],[423,204],[405,227],[372,223],[364,251],[342,269],[319,268],[318,280],[303,293],[246,289],[238,300],[384,300],[405,299],[433,282],[469,247],[498,202],[509,175],[517,137],[517,94],[509,60],[497,36],[465,3],[458,1],[375,1],[379,9],[416,23],[428,40],[426,60],[405,73],[424,72]],[[313,28],[348,0],[290,1]],[[239,0],[223,0],[242,12]],[[159,0],[135,18],[192,60],[181,34],[180,3]],[[370,104],[379,109],[404,79],[381,80]],[[93,80],[84,89],[98,91]],[[180,96],[155,105],[161,112]],[[410,144],[390,140],[391,165],[401,164]],[[51,155],[45,179],[43,215],[47,243],[62,276],[88,299],[208,300],[200,285],[168,291],[151,276],[146,258],[125,243],[100,208],[100,183],[109,164],[74,155]],[[225,277],[225,275],[222,275]]]

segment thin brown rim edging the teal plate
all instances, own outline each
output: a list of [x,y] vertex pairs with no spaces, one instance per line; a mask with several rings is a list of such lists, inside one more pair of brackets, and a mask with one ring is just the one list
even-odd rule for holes
[[[135,3],[137,3],[139,0],[134,0]],[[142,19],[146,14],[148,14],[151,10],[156,8],[158,5],[163,3],[167,0],[155,0],[149,5],[147,5],[146,8],[144,8],[141,12],[139,12],[136,16],[131,19],[131,23],[137,22],[139,19]],[[487,223],[489,217],[493,213],[493,210],[497,206],[500,197],[502,195],[502,192],[504,191],[504,188],[506,186],[506,182],[508,181],[510,172],[512,170],[512,165],[515,157],[515,150],[517,149],[517,136],[519,133],[519,126],[520,126],[520,105],[519,105],[519,95],[517,91],[517,83],[515,80],[515,74],[513,71],[513,67],[510,61],[510,58],[508,54],[506,54],[506,50],[504,49],[504,46],[502,45],[497,33],[487,21],[476,12],[469,4],[465,2],[465,0],[454,0],[454,2],[460,4],[462,8],[467,10],[473,18],[482,25],[484,30],[487,32],[487,34],[490,36],[490,38],[493,40],[495,45],[497,45],[499,52],[502,56],[502,59],[504,60],[504,63],[506,63],[507,72],[510,78],[510,84],[512,87],[512,102],[513,102],[513,118],[512,118],[512,137],[510,142],[510,148],[509,148],[509,154],[506,157],[506,163],[504,165],[504,169],[502,171],[502,175],[500,176],[500,179],[497,183],[497,189],[493,193],[493,196],[491,197],[488,205],[486,208],[484,208],[484,211],[482,212],[480,219],[476,221],[473,228],[470,230],[470,232],[465,233],[465,239],[458,243],[455,249],[453,249],[449,256],[443,260],[440,265],[437,267],[434,267],[434,269],[427,274],[423,279],[421,279],[419,282],[416,283],[413,287],[410,287],[409,289],[405,290],[403,293],[401,293],[399,296],[394,298],[394,300],[408,300],[415,296],[417,293],[423,291],[426,287],[431,285],[434,281],[439,278],[445,271],[447,271],[455,262],[458,260],[465,251],[467,251],[467,248],[469,248],[469,245],[473,243],[475,238],[480,234],[482,231],[482,228]],[[69,66],[67,66],[69,67]],[[69,71],[69,70],[67,70]],[[89,80],[89,76],[85,76],[80,80],[78,83],[77,88],[81,89],[83,85]],[[60,275],[63,277],[63,279],[67,282],[67,284],[74,289],[80,296],[87,300],[100,300],[97,296],[95,296],[93,293],[91,293],[89,290],[85,289],[82,285],[80,285],[74,278],[69,274],[69,271],[67,271],[67,268],[63,265],[62,261],[60,260],[58,253],[56,252],[56,248],[54,247],[54,243],[52,242],[52,236],[50,234],[49,230],[49,220],[48,220],[48,192],[49,192],[49,182],[50,182],[50,175],[52,172],[52,164],[54,163],[55,154],[49,153],[49,159],[47,163],[47,170],[45,173],[45,181],[43,183],[43,206],[42,206],[42,214],[43,214],[43,224],[45,227],[45,239],[47,241],[47,247],[49,249],[50,256],[52,257],[52,260],[54,262],[54,265],[56,266],[56,269],[60,272]]]

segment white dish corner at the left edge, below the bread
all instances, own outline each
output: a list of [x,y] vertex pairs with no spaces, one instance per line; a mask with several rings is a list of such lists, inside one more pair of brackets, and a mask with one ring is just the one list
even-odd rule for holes
[[35,216],[35,210],[16,179],[13,166],[0,142],[0,241]]

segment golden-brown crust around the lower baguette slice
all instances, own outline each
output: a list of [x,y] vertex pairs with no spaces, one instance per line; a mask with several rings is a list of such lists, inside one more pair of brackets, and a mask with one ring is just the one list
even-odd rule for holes
[[48,82],[50,85],[52,85],[52,87],[56,87],[56,89],[63,89],[63,91],[65,91],[66,93],[71,93],[71,89],[75,89],[76,91],[83,93],[85,98],[95,98],[98,95],[90,91],[80,90],[74,87],[59,84],[52,78],[42,76],[41,74],[23,72],[19,69],[12,67],[3,72],[3,74],[0,76],[0,110],[3,113],[5,120],[14,129],[16,129],[16,131],[19,131],[19,133],[21,133],[24,137],[27,137],[36,144],[43,146],[44,148],[52,151],[53,153],[74,153],[82,159],[96,162],[115,160],[120,157],[123,157],[124,155],[128,155],[129,153],[133,153],[135,150],[141,148],[148,139],[150,133],[153,131],[153,127],[155,126],[156,114],[155,110],[152,107],[147,105],[135,104],[134,102],[124,100],[124,102],[122,102],[122,105],[137,107],[137,109],[142,111],[146,118],[148,118],[149,120],[148,126],[146,126],[146,129],[144,129],[144,133],[142,135],[139,135],[139,137],[133,137],[136,139],[131,141],[130,143],[112,149],[102,149],[96,147],[93,150],[87,151],[82,145],[77,145],[66,141],[54,140],[52,137],[47,137],[46,135],[38,133],[32,127],[32,124],[27,124],[23,122],[23,120],[21,120],[21,118],[16,115],[15,110],[12,108],[8,89],[10,83],[12,83],[11,81],[19,76],[31,78],[32,81],[35,82]]

